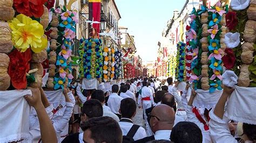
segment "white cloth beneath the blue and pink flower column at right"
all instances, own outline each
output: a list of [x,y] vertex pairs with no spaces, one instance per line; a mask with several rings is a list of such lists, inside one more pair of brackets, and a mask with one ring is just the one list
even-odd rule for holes
[[223,90],[215,90],[213,93],[210,93],[208,90],[196,90],[196,92],[197,96],[194,98],[193,106],[210,110],[210,108],[214,108],[218,103]]

